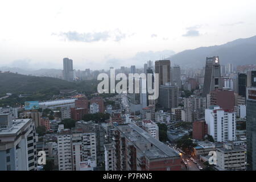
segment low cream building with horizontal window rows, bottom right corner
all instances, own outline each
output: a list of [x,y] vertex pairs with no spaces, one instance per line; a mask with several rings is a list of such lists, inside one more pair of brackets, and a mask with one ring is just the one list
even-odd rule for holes
[[245,170],[246,150],[232,143],[224,143],[224,146],[216,149],[217,168],[220,170]]

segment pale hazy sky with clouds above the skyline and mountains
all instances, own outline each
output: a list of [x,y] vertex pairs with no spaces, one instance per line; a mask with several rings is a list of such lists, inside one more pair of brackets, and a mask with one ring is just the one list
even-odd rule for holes
[[102,69],[256,35],[255,0],[1,1],[0,66]]

